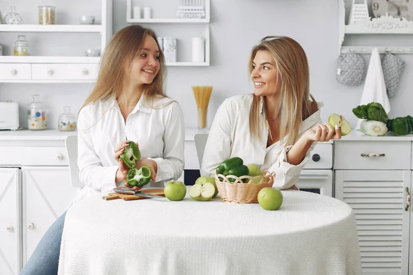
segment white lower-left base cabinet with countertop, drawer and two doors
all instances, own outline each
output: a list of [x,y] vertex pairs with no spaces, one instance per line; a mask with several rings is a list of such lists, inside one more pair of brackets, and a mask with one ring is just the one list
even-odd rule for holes
[[65,137],[56,130],[0,133],[0,274],[18,274],[76,194]]

